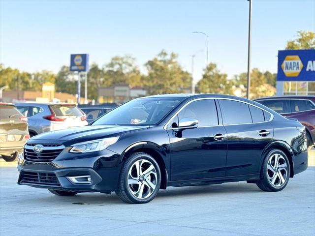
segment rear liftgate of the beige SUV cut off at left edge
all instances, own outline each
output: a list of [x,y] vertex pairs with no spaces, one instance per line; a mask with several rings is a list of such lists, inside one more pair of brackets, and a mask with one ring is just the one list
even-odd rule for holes
[[0,147],[22,147],[28,135],[27,120],[13,105],[0,105]]

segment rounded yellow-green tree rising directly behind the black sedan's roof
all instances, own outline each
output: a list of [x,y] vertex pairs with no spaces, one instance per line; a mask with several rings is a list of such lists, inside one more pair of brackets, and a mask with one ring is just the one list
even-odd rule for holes
[[184,71],[175,53],[162,50],[157,57],[145,63],[148,75],[143,76],[144,87],[148,93],[179,93],[191,87],[191,75]]

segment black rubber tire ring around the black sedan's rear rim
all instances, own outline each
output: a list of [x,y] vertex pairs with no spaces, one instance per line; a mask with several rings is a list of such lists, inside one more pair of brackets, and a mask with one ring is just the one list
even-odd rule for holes
[[[268,165],[268,160],[269,158],[274,155],[274,154],[281,154],[285,161],[286,161],[286,164],[287,164],[287,177],[285,179],[285,183],[280,186],[280,187],[276,187],[274,185],[272,185],[270,182],[269,182],[269,179],[268,179],[268,173],[267,173],[267,165]],[[263,178],[263,181],[264,181],[264,184],[271,190],[271,191],[281,191],[282,189],[285,188],[285,186],[287,185],[288,181],[289,181],[289,178],[290,178],[290,162],[289,162],[289,159],[287,158],[287,156],[285,155],[285,153],[282,151],[282,150],[279,150],[279,149],[273,149],[271,151],[269,151],[265,157],[265,160],[264,160],[264,163],[263,163],[263,166],[262,166],[262,178]]]

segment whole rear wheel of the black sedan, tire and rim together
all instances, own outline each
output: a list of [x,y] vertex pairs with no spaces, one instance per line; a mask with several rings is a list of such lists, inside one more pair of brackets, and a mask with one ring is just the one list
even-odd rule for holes
[[282,150],[272,149],[263,161],[257,186],[266,192],[285,188],[290,178],[290,162]]

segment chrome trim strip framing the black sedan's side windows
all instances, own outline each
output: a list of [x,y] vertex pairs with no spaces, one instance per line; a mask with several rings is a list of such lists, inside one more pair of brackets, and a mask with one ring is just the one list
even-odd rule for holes
[[[181,107],[181,109],[179,109],[167,122],[166,124],[163,126],[163,129],[165,130],[174,130],[174,129],[178,129],[178,128],[167,128],[167,126],[169,125],[169,123],[172,121],[173,118],[175,118],[186,106],[188,106],[190,103],[194,102],[194,101],[199,101],[199,100],[207,100],[207,99],[223,99],[223,100],[231,100],[231,101],[236,101],[236,102],[242,102],[242,103],[245,103],[247,105],[251,105],[253,107],[256,107],[262,111],[265,111],[267,113],[270,114],[270,118],[269,120],[266,120],[266,121],[263,121],[263,122],[252,122],[252,123],[239,123],[239,124],[218,124],[218,125],[209,125],[209,126],[198,126],[197,128],[205,128],[205,127],[218,127],[218,126],[228,126],[228,125],[241,125],[241,124],[260,124],[260,123],[266,123],[266,122],[270,122],[274,119],[274,115],[271,113],[271,112],[268,112],[267,110],[261,108],[261,107],[258,107],[252,103],[249,103],[249,102],[246,102],[246,101],[241,101],[241,100],[237,100],[237,99],[233,99],[233,98],[225,98],[225,97],[203,97],[203,98],[196,98],[196,99],[193,99],[191,101],[189,101],[188,103],[186,103],[185,105],[183,105]],[[222,112],[221,112],[222,113]],[[218,114],[218,111],[217,111],[217,114]],[[218,114],[219,115],[219,114]],[[223,120],[222,120],[223,122]]]

